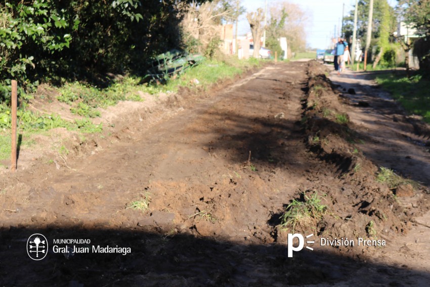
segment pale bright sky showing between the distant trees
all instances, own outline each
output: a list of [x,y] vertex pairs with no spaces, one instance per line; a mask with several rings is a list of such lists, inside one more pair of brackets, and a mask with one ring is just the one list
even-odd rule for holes
[[[309,23],[305,28],[307,45],[318,49],[325,49],[329,46],[335,25],[336,35],[338,34],[343,4],[345,4],[345,16],[348,16],[355,5],[355,0],[267,0],[267,5],[285,1],[298,4],[308,13]],[[246,8],[247,12],[254,12],[258,8],[264,9],[265,2],[266,0],[242,0],[241,5]],[[388,3],[394,7],[397,0],[388,0]],[[246,13],[239,18],[239,35],[250,31],[245,15]]]

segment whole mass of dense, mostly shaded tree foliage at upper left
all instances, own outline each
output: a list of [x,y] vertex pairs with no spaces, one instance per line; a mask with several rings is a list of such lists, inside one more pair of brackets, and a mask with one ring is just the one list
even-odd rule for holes
[[76,79],[106,85],[107,72],[139,74],[149,57],[178,47],[181,7],[173,0],[6,2],[0,8],[0,86],[11,78],[21,87]]

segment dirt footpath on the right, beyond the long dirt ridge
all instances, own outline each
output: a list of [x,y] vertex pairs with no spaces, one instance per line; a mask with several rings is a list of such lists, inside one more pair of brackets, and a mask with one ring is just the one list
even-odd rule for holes
[[[359,147],[376,165],[430,187],[430,152],[422,144],[425,138],[414,134],[403,108],[377,87],[375,73],[378,72],[346,70],[340,76],[335,71],[330,73],[332,82],[341,86],[340,91],[352,104],[348,112],[351,121],[369,138]],[[347,92],[351,88],[356,94]],[[426,199],[418,193],[399,200],[413,207]],[[381,251],[378,261],[430,273],[430,212],[416,218],[408,234]],[[426,286],[426,279],[416,279],[414,285]]]

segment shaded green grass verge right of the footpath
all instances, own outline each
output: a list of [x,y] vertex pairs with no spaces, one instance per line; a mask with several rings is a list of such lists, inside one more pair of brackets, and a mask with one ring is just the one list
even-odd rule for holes
[[381,74],[377,75],[375,80],[408,112],[422,116],[423,120],[430,124],[430,93],[428,93],[430,79],[421,75],[408,78],[394,74]]

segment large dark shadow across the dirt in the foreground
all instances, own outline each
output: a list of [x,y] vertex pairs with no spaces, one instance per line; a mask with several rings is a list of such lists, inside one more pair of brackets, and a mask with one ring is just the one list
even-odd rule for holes
[[[45,235],[49,244],[46,258],[40,261],[31,260],[25,251],[34,233]],[[318,242],[314,251],[304,249],[288,258],[281,244],[243,245],[138,230],[11,228],[0,234],[3,286],[285,286],[333,285],[340,280],[349,281],[347,285],[404,286],[411,283],[406,274],[430,278],[406,266],[359,263],[321,252]],[[89,247],[90,253],[54,253],[54,245],[66,245],[53,244],[54,239],[90,239],[90,244],[67,244],[70,249]],[[92,253],[97,245],[130,248],[131,253]]]

